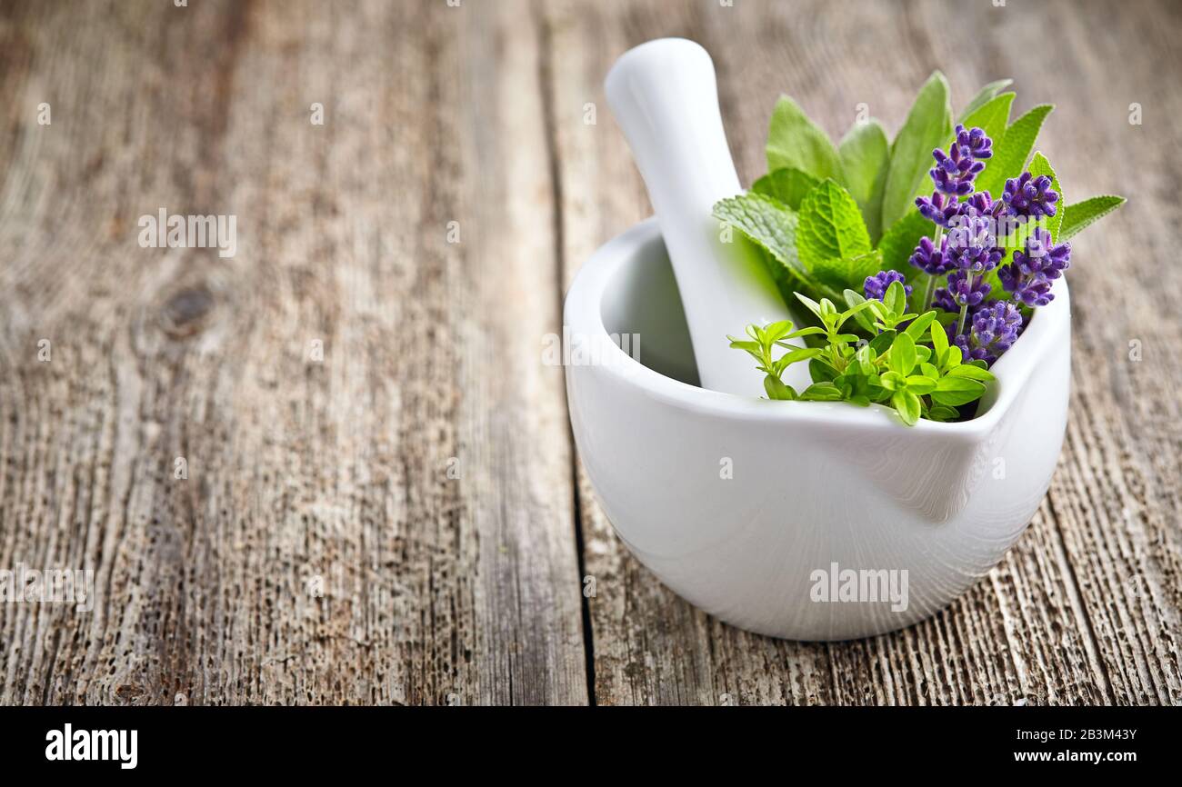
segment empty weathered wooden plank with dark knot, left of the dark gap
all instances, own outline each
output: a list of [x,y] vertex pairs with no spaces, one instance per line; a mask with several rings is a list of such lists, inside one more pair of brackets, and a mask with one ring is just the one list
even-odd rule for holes
[[0,701],[586,702],[528,11],[4,20],[0,566],[98,605],[0,605]]

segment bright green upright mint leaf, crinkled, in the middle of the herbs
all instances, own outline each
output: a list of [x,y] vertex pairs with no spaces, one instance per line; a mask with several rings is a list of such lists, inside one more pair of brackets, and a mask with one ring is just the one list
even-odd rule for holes
[[812,271],[825,266],[829,260],[847,260],[870,251],[870,234],[858,203],[849,191],[826,180],[805,196],[797,225],[797,254],[805,269]]

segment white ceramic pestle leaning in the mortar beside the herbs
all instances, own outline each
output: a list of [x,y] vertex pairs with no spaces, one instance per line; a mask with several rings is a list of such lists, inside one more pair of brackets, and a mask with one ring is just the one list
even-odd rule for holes
[[[723,243],[712,215],[741,188],[710,56],[683,38],[649,41],[621,56],[604,90],[656,209],[702,386],[761,396],[762,372],[726,337],[791,317],[762,260],[738,242],[738,230],[736,242]],[[807,388],[806,364],[790,366],[784,382]]]

